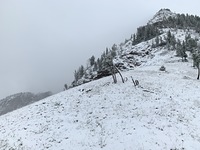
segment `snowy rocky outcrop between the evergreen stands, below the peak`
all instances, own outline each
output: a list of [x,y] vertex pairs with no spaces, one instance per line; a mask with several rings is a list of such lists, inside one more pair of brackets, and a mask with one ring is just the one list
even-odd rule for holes
[[[165,39],[167,37],[167,32],[170,31],[172,35],[175,36],[176,41],[180,40],[183,42],[186,35],[191,35],[193,39],[199,39],[199,34],[194,30],[183,30],[183,29],[161,29],[162,34],[158,36],[159,39]],[[156,37],[148,41],[143,41],[139,44],[132,45],[132,41],[129,40],[126,44],[120,46],[118,50],[121,50],[118,56],[113,60],[114,64],[123,64],[124,70],[132,70],[137,66],[151,65],[154,62],[160,63],[167,59],[166,57],[157,56],[157,52],[162,49],[166,49],[166,46],[159,46],[156,48],[152,47],[152,43],[155,43]],[[175,50],[173,50],[174,52]],[[169,52],[169,51],[168,51]],[[175,55],[175,54],[174,54]],[[156,56],[156,57],[155,57]]]

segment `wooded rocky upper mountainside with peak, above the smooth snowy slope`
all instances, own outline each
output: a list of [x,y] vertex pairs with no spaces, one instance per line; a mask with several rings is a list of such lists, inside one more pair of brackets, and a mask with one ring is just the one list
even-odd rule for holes
[[[92,56],[89,64],[81,65],[74,73],[75,87],[112,74],[112,66],[119,70],[131,70],[154,57],[154,51],[160,48],[176,51],[182,58],[190,54],[199,55],[200,17],[194,15],[175,14],[169,9],[161,9],[149,21],[141,26],[131,38],[110,49],[106,48],[100,58]],[[200,58],[199,58],[200,59]]]

